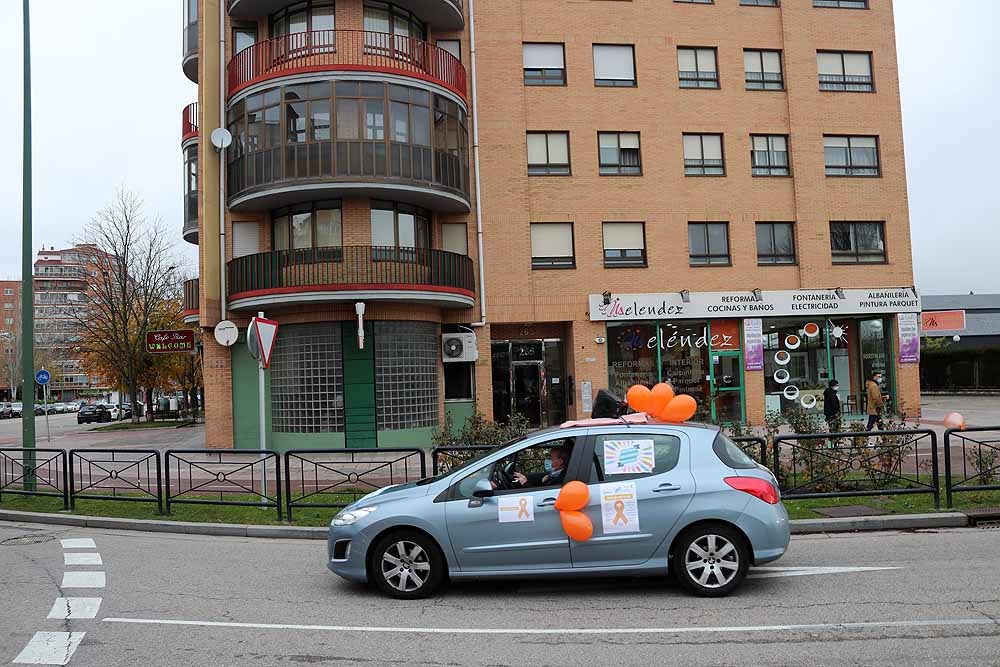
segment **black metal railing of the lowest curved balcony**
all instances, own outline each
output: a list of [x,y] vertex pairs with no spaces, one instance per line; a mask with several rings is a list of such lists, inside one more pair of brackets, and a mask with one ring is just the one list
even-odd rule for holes
[[335,246],[237,257],[226,266],[229,296],[283,288],[451,288],[472,292],[472,258],[431,248]]

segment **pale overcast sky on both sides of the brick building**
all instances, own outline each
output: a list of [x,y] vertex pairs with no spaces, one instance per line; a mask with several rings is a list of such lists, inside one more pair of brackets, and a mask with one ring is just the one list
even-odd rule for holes
[[[735,2],[735,0],[726,0]],[[807,0],[786,0],[805,2]],[[881,2],[884,0],[873,0]],[[0,276],[20,274],[21,16],[0,13],[5,147]],[[895,0],[917,286],[1000,292],[1000,29],[996,0]],[[180,0],[34,0],[36,248],[72,241],[119,185],[181,240]]]

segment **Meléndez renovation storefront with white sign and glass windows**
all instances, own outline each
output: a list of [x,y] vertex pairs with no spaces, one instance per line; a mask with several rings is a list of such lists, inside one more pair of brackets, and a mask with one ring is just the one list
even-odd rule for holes
[[823,413],[839,382],[845,418],[863,415],[865,382],[882,373],[901,407],[900,365],[919,363],[912,290],[796,290],[591,295],[606,323],[608,386],[670,382],[701,417],[759,423],[770,411]]

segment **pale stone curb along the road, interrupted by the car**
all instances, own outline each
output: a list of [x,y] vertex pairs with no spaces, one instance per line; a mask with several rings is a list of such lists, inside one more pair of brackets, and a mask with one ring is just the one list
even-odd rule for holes
[[[157,521],[154,519],[113,519],[75,514],[46,514],[0,510],[0,521],[45,523],[79,528],[139,530],[153,533],[184,535],[218,535],[227,537],[264,537],[271,539],[325,540],[326,528],[306,526],[248,526],[235,523],[197,523],[193,521]],[[937,514],[887,514],[884,516],[847,517],[838,519],[794,519],[788,522],[792,535],[815,533],[849,533],[869,530],[912,530],[915,528],[964,528],[969,517],[961,512]]]

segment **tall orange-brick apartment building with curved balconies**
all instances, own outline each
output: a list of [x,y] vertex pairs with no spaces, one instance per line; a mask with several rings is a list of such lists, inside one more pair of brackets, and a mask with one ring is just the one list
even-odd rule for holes
[[[271,447],[661,379],[720,421],[834,377],[860,413],[875,371],[919,409],[889,0],[222,9],[186,1],[187,312],[281,323]],[[205,341],[207,442],[256,447],[255,362]]]

